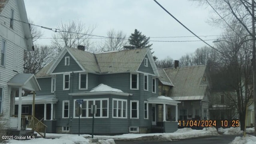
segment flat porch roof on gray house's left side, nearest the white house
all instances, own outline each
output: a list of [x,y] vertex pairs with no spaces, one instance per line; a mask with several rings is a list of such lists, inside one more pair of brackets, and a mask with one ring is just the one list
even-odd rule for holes
[[[33,104],[33,95],[22,96],[22,104]],[[58,99],[55,96],[35,96],[35,104],[56,104]],[[15,98],[15,104],[19,103],[19,98]]]

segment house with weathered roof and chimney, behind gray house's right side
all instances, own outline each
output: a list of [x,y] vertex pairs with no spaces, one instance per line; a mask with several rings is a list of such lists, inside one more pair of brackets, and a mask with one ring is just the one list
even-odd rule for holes
[[[162,80],[172,82],[172,85],[162,82],[165,86],[162,95],[181,102],[178,104],[178,120],[209,119],[211,83],[206,65],[179,67],[176,61],[174,68],[162,71]],[[159,89],[164,86],[159,85]]]

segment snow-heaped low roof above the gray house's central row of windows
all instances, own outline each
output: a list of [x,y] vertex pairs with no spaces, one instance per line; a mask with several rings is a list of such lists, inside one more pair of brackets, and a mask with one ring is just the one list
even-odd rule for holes
[[71,96],[92,96],[92,95],[100,95],[100,94],[114,94],[118,96],[132,96],[133,94],[123,92],[122,90],[112,88],[107,86],[106,84],[99,84],[95,88],[92,88],[89,92],[75,92],[70,93]]

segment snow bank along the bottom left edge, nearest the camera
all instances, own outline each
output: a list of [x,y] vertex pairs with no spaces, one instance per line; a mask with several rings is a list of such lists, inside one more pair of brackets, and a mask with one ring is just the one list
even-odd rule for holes
[[[9,140],[7,144],[92,144],[83,136],[62,136],[60,138],[35,138],[33,140]],[[94,143],[95,144],[95,143]],[[97,144],[115,144],[113,139],[99,140]]]

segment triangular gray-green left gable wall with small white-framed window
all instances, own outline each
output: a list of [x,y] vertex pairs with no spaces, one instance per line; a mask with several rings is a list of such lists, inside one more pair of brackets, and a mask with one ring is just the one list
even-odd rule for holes
[[[69,57],[69,65],[65,66],[65,57]],[[75,72],[75,71],[81,71],[82,69],[77,64],[77,62],[70,56],[70,54],[67,52],[63,58],[60,60],[60,63],[56,66],[53,73],[58,72]]]

